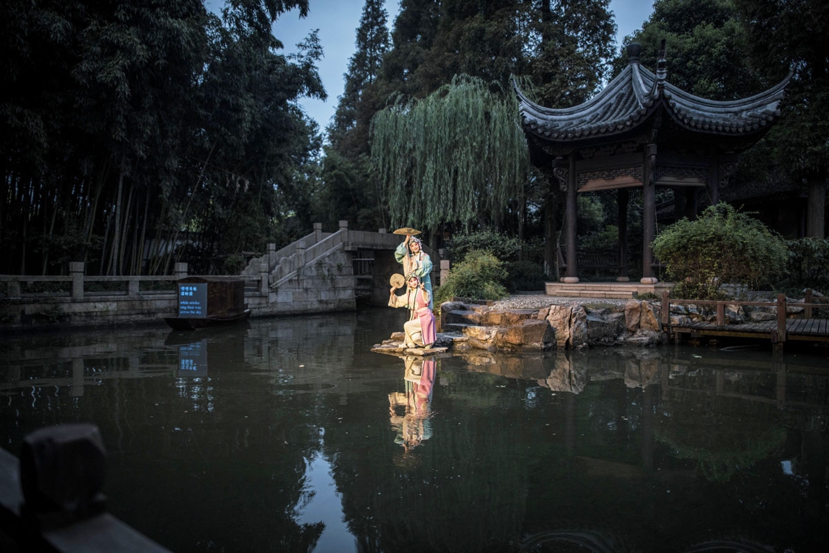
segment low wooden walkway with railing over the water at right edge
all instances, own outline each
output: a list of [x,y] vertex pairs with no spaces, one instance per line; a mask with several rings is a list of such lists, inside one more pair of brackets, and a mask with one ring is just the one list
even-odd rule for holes
[[[822,300],[824,303],[820,303]],[[806,300],[802,303],[787,301],[783,294],[778,295],[777,301],[696,301],[671,300],[668,292],[662,295],[662,328],[678,337],[686,334],[692,337],[732,337],[768,339],[776,346],[782,346],[789,340],[801,340],[829,343],[829,319],[812,318],[816,310],[829,310],[827,298],[812,297],[808,290]],[[713,305],[716,310],[715,322],[671,321],[671,305]],[[775,308],[775,320],[765,320],[750,323],[729,323],[725,317],[726,305],[762,305]],[[802,308],[799,318],[787,318],[789,308]]]

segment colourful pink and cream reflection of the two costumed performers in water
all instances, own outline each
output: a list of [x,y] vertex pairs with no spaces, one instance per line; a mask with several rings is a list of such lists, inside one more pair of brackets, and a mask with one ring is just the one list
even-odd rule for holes
[[[432,437],[432,423],[429,421],[434,387],[434,359],[415,356],[405,358],[406,392],[389,394],[389,415],[392,430],[395,430],[395,444],[403,446],[408,452]],[[405,409],[402,415],[395,409]]]

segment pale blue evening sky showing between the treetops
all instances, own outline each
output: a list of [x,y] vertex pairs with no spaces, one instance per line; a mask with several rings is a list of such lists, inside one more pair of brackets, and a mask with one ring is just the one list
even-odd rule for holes
[[[206,4],[222,5],[224,2],[208,0]],[[296,45],[314,29],[319,29],[324,57],[318,62],[322,85],[328,94],[325,101],[302,99],[300,105],[324,131],[334,112],[337,110],[337,98],[342,96],[345,88],[343,74],[348,68],[348,61],[354,54],[356,29],[360,26],[360,17],[364,0],[309,0],[308,17],[300,19],[298,10],[284,14],[274,24],[274,36],[282,41],[285,53],[295,52]],[[391,26],[400,0],[385,0]],[[610,10],[615,14],[618,32],[616,42],[621,45],[624,36],[631,34],[642,26],[653,11],[653,0],[610,0]]]

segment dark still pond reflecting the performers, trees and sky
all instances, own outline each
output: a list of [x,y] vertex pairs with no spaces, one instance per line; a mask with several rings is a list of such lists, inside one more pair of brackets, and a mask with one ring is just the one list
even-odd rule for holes
[[94,422],[176,553],[829,543],[826,349],[372,353],[397,311],[6,336],[0,444]]

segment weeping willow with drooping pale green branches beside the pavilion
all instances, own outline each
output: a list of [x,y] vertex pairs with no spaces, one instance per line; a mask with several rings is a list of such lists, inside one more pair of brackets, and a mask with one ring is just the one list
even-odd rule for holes
[[511,94],[456,75],[425,99],[398,102],[371,122],[371,161],[392,226],[499,225],[523,209],[528,153]]

